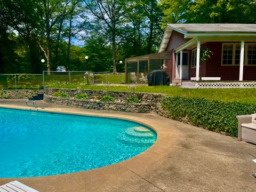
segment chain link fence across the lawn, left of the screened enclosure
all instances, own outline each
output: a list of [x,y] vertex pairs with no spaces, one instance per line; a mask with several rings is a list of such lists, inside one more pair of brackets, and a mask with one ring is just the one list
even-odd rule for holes
[[43,74],[0,74],[0,89],[32,89],[68,84],[125,84],[125,74],[89,71],[43,71]]

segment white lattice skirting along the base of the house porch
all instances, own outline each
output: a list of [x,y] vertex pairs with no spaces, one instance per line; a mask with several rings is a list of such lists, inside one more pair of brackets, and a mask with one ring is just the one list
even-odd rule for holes
[[184,88],[207,89],[207,88],[256,88],[256,81],[253,82],[182,82]]

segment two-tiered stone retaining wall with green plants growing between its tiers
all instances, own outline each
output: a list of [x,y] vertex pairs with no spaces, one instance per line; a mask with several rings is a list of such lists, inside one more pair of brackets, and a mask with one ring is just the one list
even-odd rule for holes
[[[117,110],[119,110],[118,106],[121,104],[115,106],[113,103],[122,103],[122,105],[127,104],[126,109],[122,109],[122,110],[129,111],[129,109],[127,109],[127,107],[129,107],[131,105],[138,104],[138,103],[125,103],[125,101],[126,101],[126,99],[128,99],[130,97],[135,97],[142,101],[142,103],[139,103],[139,104],[148,104],[150,106],[150,111],[153,111],[154,113],[157,113],[157,114],[159,113],[159,111],[161,111],[162,99],[167,96],[166,94],[156,94],[156,93],[142,93],[142,92],[128,92],[128,91],[81,90],[81,89],[53,89],[53,88],[45,87],[45,97],[44,98],[46,98],[46,95],[50,95],[50,96],[53,95],[54,92],[66,93],[71,98],[75,97],[76,94],[82,94],[82,93],[86,93],[89,96],[89,99],[93,99],[94,97],[101,99],[105,95],[114,97],[117,102],[108,102],[110,104],[106,108],[110,108],[110,109],[105,109],[105,110],[114,110],[115,107],[117,107]],[[67,102],[69,102],[68,99],[66,99],[66,100],[67,100]],[[47,102],[52,102],[52,101],[47,101]],[[60,102],[60,101],[58,101],[58,102]],[[100,101],[93,101],[93,102],[100,102]],[[54,103],[60,104],[60,103],[57,103],[57,100],[54,100]],[[106,104],[107,102],[101,102],[101,103],[104,103],[101,105],[107,105]],[[66,104],[61,104],[61,105],[66,105]],[[67,105],[69,105],[69,104],[67,104]],[[86,105],[89,105],[89,104],[86,104]],[[112,106],[114,105],[114,107],[110,107],[110,105],[112,105]],[[95,107],[95,105],[94,105],[94,107]],[[91,108],[94,109],[93,107],[91,107]],[[87,108],[87,109],[91,109],[91,108]],[[102,107],[102,106],[99,107],[99,109],[103,109],[103,108],[104,107]],[[123,107],[123,108],[125,108],[125,107]],[[142,110],[138,110],[138,111],[142,111]],[[147,111],[147,109],[145,109],[145,111]],[[129,112],[131,112],[131,111],[129,111]],[[137,112],[137,113],[148,113],[148,112]]]

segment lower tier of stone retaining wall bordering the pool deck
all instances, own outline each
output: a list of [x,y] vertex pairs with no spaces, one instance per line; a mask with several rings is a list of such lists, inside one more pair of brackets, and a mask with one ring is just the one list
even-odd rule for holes
[[50,95],[44,96],[44,101],[55,103],[58,105],[73,106],[85,109],[99,110],[115,110],[126,111],[132,113],[150,113],[151,106],[149,103],[126,103],[126,102],[111,102],[111,101],[91,101],[73,98],[58,98]]

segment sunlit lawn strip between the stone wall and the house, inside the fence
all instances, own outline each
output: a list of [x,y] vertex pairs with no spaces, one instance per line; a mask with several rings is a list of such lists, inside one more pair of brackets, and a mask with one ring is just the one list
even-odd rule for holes
[[[131,91],[129,86],[97,86],[97,85],[63,85],[55,88],[90,89],[109,91]],[[169,96],[182,96],[187,98],[205,98],[225,102],[237,101],[256,103],[256,89],[183,89],[172,86],[132,86],[133,91],[146,93],[163,93]]]

